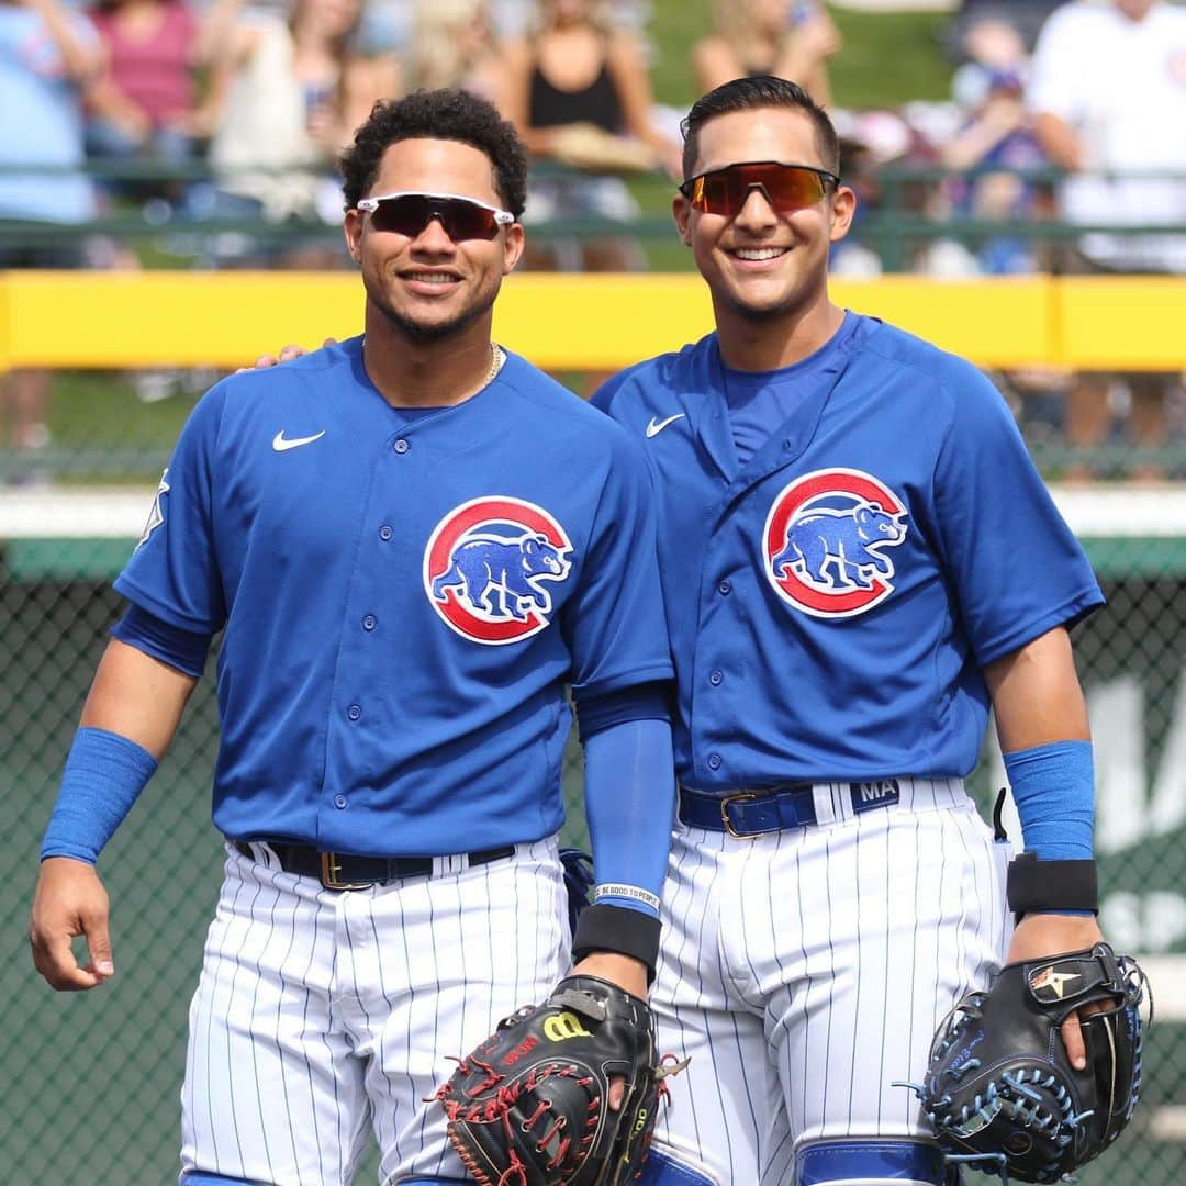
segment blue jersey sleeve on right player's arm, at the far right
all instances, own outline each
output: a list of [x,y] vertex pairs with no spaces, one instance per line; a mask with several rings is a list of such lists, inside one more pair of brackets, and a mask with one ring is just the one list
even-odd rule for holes
[[944,568],[981,667],[1103,604],[1000,393],[961,364],[935,471]]

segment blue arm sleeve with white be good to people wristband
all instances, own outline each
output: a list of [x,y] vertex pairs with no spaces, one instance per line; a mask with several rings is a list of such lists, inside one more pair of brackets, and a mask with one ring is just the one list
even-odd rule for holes
[[585,810],[597,871],[594,903],[658,918],[675,818],[667,721],[624,721],[588,739]]

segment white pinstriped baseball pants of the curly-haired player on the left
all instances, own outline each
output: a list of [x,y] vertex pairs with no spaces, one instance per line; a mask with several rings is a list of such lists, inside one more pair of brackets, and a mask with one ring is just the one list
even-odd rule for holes
[[472,869],[331,892],[228,849],[190,1006],[181,1166],[343,1186],[365,1147],[381,1182],[464,1178],[440,1104],[464,1054],[568,968],[554,839]]

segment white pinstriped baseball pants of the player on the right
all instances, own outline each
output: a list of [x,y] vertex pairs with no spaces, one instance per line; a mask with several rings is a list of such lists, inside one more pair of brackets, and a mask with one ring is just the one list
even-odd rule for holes
[[656,1142],[722,1186],[786,1186],[806,1141],[927,1135],[912,1092],[951,1005],[1001,963],[1005,868],[959,779],[738,840],[676,829],[651,991],[670,1080]]

